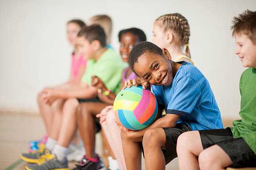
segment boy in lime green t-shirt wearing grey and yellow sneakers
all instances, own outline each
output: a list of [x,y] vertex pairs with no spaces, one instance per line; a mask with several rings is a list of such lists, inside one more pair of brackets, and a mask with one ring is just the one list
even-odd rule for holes
[[[20,156],[26,162],[38,163],[28,165],[27,170],[68,170],[66,155],[69,143],[77,130],[76,111],[79,103],[97,102],[100,103],[97,108],[102,109],[108,105],[102,103],[97,97],[98,89],[92,85],[93,76],[100,77],[108,90],[112,92],[117,93],[120,89],[120,77],[127,65],[122,62],[118,53],[106,47],[106,36],[103,28],[100,25],[83,27],[77,36],[79,52],[90,58],[87,61],[82,82],[66,90],[45,90],[45,100],[49,104],[57,98],[67,99],[63,106],[65,116],[61,120],[59,133],[50,133],[45,146],[40,147],[35,153]],[[58,119],[57,114],[55,114],[55,119]],[[53,130],[58,132],[58,130]],[[94,130],[92,133],[95,133]],[[39,156],[41,157],[39,158]],[[101,160],[98,161],[98,166],[103,168]]]

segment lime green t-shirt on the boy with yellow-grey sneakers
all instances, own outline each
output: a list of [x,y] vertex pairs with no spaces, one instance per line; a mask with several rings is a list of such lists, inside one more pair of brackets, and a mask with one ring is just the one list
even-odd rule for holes
[[123,69],[127,65],[115,50],[108,48],[97,61],[94,59],[87,61],[82,82],[86,82],[90,86],[92,85],[92,76],[96,75],[109,90],[117,94],[120,91]]

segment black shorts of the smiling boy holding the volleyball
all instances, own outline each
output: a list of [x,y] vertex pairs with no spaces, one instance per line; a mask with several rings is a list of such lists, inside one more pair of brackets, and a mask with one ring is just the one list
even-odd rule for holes
[[[191,131],[191,128],[189,127],[189,125],[177,123],[177,125],[174,128],[163,129],[166,135],[166,149],[162,149],[162,152],[164,153],[165,164],[167,165],[169,162],[171,162],[171,160],[177,158],[176,146],[179,135],[181,135],[184,132]],[[141,148],[144,155],[142,143]]]

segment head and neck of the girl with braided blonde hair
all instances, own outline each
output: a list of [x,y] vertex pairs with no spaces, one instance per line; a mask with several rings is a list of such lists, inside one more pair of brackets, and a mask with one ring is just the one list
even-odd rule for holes
[[[187,19],[179,13],[165,14],[156,19],[152,42],[166,48],[175,62],[186,61],[194,65],[189,52],[190,28]],[[186,46],[185,53],[182,52]]]

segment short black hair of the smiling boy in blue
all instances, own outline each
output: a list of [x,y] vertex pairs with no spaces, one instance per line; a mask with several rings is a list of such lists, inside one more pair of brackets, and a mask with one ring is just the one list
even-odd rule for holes
[[129,54],[129,65],[135,74],[136,72],[134,71],[134,64],[138,61],[138,58],[145,52],[163,55],[162,49],[157,45],[153,44],[152,42],[144,41],[135,45]]

